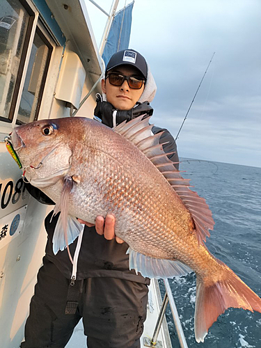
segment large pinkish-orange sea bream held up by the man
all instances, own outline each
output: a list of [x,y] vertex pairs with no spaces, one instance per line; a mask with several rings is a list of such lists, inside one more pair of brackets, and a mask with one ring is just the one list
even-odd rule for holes
[[76,216],[95,223],[113,214],[116,235],[129,244],[131,269],[150,278],[196,272],[195,335],[203,342],[226,308],[261,312],[261,299],[207,250],[212,213],[151,128],[142,116],[115,129],[88,118],[40,120],[15,128],[10,143],[26,180],[61,212],[54,253],[79,235]]

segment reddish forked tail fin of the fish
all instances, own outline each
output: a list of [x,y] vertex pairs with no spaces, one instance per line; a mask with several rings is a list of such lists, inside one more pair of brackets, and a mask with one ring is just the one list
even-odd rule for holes
[[225,268],[225,276],[212,285],[197,277],[195,337],[204,342],[207,331],[217,317],[229,308],[243,308],[261,313],[261,299],[226,264],[217,260]]

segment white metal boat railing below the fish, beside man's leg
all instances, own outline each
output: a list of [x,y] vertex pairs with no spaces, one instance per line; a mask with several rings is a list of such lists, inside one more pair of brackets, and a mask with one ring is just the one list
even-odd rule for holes
[[180,317],[177,313],[177,307],[175,305],[175,301],[173,298],[173,294],[171,292],[171,286],[168,283],[168,279],[164,279],[164,285],[166,289],[166,293],[164,295],[164,300],[161,304],[161,310],[159,311],[159,316],[157,319],[157,323],[155,326],[155,330],[153,332],[152,338],[144,338],[143,345],[145,347],[154,347],[154,348],[160,348],[162,347],[161,342],[157,341],[158,335],[159,335],[159,330],[161,329],[161,324],[164,319],[164,315],[166,313],[166,308],[169,303],[171,307],[171,313],[173,315],[173,320],[175,324],[175,329],[177,331],[177,337],[180,342],[180,347],[182,348],[188,348],[186,338],[184,336],[184,332],[182,329],[182,324],[180,322]]

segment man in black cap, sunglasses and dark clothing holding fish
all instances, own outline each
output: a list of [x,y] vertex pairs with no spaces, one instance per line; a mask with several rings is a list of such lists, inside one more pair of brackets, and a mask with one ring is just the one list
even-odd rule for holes
[[[150,102],[155,81],[145,58],[133,49],[114,54],[102,80],[95,116],[113,127],[123,120],[152,114]],[[152,132],[161,132],[153,127]],[[177,162],[175,141],[168,131],[161,136],[166,152]],[[33,187],[35,198],[52,203]],[[114,235],[114,216],[97,216],[95,226],[86,221],[77,264],[77,280],[71,281],[72,264],[67,251],[52,251],[52,237],[58,216],[45,219],[48,234],[46,255],[38,273],[31,300],[22,348],[65,347],[81,317],[88,348],[140,347],[146,317],[150,280],[129,270],[127,244]],[[95,232],[97,231],[97,233]],[[72,255],[77,239],[70,245]]]

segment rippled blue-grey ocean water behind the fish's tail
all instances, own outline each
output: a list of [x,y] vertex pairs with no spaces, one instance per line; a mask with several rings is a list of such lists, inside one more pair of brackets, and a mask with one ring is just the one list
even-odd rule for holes
[[[180,170],[212,210],[215,226],[207,248],[261,296],[261,168],[182,159]],[[189,347],[261,347],[261,313],[238,308],[220,315],[198,344],[193,330],[196,276],[169,282]],[[169,306],[166,318],[173,347],[180,347]]]

